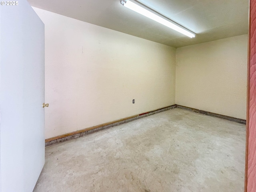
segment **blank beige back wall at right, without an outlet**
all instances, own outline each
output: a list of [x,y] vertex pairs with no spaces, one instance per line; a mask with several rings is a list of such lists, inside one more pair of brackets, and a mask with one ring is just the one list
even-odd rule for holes
[[176,104],[246,119],[247,35],[178,48]]

